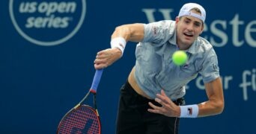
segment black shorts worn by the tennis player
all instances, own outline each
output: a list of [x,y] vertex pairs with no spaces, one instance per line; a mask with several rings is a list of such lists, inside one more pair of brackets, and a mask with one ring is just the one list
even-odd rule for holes
[[[167,117],[152,112],[148,102],[161,106],[155,100],[149,100],[138,95],[129,83],[121,87],[119,100],[117,134],[178,134],[180,118]],[[177,105],[184,105],[183,98],[174,101]]]

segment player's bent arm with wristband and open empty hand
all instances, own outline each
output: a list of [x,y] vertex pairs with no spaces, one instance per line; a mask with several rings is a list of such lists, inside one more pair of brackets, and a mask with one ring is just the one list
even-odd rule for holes
[[205,83],[205,91],[207,92],[207,101],[194,105],[177,106],[162,90],[161,93],[156,94],[155,98],[156,102],[162,106],[148,103],[152,108],[147,110],[168,117],[180,118],[196,118],[222,113],[224,109],[224,96],[221,78],[218,77],[209,83]]

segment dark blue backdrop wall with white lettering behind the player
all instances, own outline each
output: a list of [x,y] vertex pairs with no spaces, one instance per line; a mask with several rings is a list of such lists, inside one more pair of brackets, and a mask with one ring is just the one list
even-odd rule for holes
[[[90,88],[94,57],[109,48],[116,26],[175,19],[189,2],[61,1],[0,1],[0,133],[55,133],[61,117]],[[194,2],[207,10],[202,36],[219,56],[225,111],[183,118],[180,133],[253,133],[256,1]],[[55,5],[59,10],[51,10]],[[124,57],[103,73],[97,94],[103,134],[115,133],[119,89],[135,63],[134,54],[135,43],[129,42]],[[186,103],[207,99],[200,76],[188,86]]]

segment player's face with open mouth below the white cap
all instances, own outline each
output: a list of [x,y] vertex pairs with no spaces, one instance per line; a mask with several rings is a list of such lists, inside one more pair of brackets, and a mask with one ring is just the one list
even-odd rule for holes
[[183,50],[188,49],[204,29],[201,19],[193,16],[177,17],[176,24],[177,45]]

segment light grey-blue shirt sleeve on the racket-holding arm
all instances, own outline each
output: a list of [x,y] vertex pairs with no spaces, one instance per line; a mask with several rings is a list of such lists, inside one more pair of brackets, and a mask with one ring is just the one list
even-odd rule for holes
[[162,45],[171,38],[174,33],[174,21],[159,21],[144,24],[144,39],[142,42],[151,42],[153,45]]

